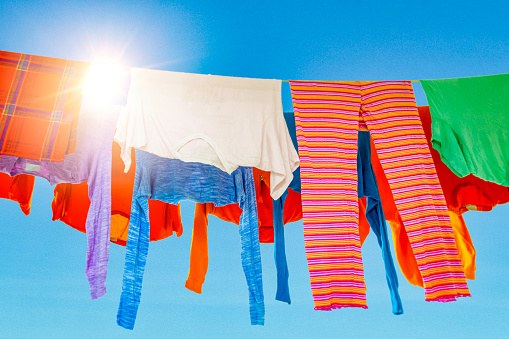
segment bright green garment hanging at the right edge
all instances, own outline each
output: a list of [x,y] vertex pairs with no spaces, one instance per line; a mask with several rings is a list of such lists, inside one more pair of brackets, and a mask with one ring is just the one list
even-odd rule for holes
[[459,177],[509,186],[509,74],[421,80],[431,143]]

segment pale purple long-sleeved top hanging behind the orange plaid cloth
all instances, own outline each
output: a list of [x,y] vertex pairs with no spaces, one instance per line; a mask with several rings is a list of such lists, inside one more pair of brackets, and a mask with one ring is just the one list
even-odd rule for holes
[[51,185],[88,181],[87,268],[92,299],[106,293],[111,227],[111,146],[120,106],[92,105],[86,98],[78,121],[74,153],[62,162],[38,161],[2,155],[0,171],[15,176],[31,174]]

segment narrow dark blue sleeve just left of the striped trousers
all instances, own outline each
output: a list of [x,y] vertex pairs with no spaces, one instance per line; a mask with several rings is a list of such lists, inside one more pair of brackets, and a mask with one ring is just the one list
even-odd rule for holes
[[277,272],[276,300],[290,304],[290,287],[288,286],[288,264],[285,251],[285,230],[283,225],[283,208],[288,190],[277,199],[272,200],[274,218],[274,262]]

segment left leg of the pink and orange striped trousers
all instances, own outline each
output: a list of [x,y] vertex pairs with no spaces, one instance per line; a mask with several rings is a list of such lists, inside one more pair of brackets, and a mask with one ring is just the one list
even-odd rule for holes
[[366,308],[358,230],[358,85],[291,82],[316,310]]

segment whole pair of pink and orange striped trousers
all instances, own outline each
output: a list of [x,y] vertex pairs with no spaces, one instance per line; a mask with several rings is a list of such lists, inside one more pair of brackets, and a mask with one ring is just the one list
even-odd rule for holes
[[411,83],[290,81],[290,87],[315,309],[367,307],[358,230],[359,116],[388,174],[426,300],[469,296]]

